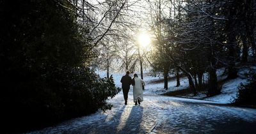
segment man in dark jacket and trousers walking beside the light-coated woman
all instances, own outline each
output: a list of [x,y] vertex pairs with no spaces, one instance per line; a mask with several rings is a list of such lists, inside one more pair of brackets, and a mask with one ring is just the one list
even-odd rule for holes
[[124,75],[121,79],[125,105],[127,105],[128,92],[132,83],[132,78],[129,76],[129,74],[130,74],[130,71],[127,71],[126,75]]

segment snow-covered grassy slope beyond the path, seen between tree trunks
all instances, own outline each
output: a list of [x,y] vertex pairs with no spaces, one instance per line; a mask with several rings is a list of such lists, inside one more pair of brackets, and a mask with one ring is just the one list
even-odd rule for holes
[[[247,79],[246,75],[250,74],[250,71],[253,71],[253,70],[254,71],[256,70],[255,66],[244,67],[241,70],[239,70],[239,72],[238,72],[239,77],[225,82],[225,84],[223,84],[223,86],[222,86],[221,94],[219,94],[217,96],[213,96],[211,98],[205,98],[206,94],[204,92],[202,92],[202,93],[198,93],[196,96],[193,96],[193,94],[187,94],[187,95],[181,96],[181,97],[216,101],[218,103],[232,103],[232,101],[234,101],[234,99],[236,98],[236,94],[238,91],[237,87],[241,83],[243,83],[243,84],[248,83],[248,79]],[[224,71],[225,71],[224,68],[217,70],[218,80],[223,80],[227,77],[226,75],[223,75]],[[100,77],[106,77],[106,73],[104,73],[102,71],[98,71],[97,73],[99,73]],[[120,80],[121,80],[122,76],[125,75],[125,73],[112,73],[111,75],[113,75],[116,86],[121,87]],[[133,74],[131,74],[130,76],[132,76],[132,75]],[[164,87],[163,82],[155,82],[157,80],[162,80],[163,76],[152,77],[150,75],[150,73],[145,73],[143,75],[143,77],[144,77],[144,81],[146,82],[145,91],[143,94],[157,95],[157,94],[163,94],[163,93],[168,93],[168,92],[172,92],[172,91],[177,91],[180,89],[188,89],[188,87],[189,87],[188,78],[186,78],[186,77],[180,78],[180,86],[179,87],[175,87],[176,80],[170,80],[168,82],[167,90],[163,89],[163,87]],[[170,77],[173,77],[173,76],[170,76]],[[207,79],[208,79],[207,73],[204,74],[204,79],[205,79],[205,82],[207,82]],[[131,87],[131,90],[132,90],[132,87]]]

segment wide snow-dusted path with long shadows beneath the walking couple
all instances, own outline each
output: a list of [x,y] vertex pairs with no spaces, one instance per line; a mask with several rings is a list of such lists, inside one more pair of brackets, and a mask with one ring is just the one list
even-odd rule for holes
[[211,101],[144,96],[134,105],[129,93],[109,100],[112,110],[66,121],[31,133],[253,133],[256,109],[230,107]]

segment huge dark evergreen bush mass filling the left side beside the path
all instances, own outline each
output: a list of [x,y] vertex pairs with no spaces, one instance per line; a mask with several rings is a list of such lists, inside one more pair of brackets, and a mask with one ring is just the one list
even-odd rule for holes
[[0,1],[3,131],[110,108],[106,100],[120,91],[90,69],[94,46],[71,10],[67,1]]

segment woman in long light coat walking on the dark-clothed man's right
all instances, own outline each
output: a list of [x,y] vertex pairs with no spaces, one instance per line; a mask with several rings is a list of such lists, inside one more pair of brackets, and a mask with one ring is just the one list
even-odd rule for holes
[[[135,105],[140,104],[143,101],[143,88],[145,86],[145,82],[138,78],[138,75],[134,73],[134,78],[132,78],[132,86],[133,86],[133,101]],[[137,103],[138,102],[138,103]]]

